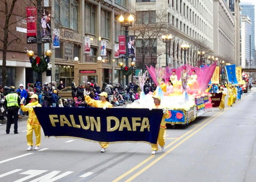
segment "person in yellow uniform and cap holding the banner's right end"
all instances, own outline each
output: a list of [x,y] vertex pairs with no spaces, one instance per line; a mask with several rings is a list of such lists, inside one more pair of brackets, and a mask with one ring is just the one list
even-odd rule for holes
[[[152,96],[152,98],[154,99],[154,106],[152,107],[152,109],[165,109],[165,107],[160,104],[161,103],[160,96]],[[164,110],[163,112],[164,112],[164,115],[161,120],[157,143],[151,145],[152,155],[155,155],[156,152],[158,151],[158,143],[161,147],[161,151],[165,152],[165,147],[164,147],[165,146],[164,134],[166,129],[165,118],[169,118],[169,112],[167,112],[166,110]]]

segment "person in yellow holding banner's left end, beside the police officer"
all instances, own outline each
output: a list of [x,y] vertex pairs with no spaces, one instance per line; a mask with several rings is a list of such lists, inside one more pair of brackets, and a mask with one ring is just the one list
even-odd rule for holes
[[24,97],[21,100],[21,110],[28,111],[28,119],[27,119],[27,151],[31,151],[33,149],[33,131],[35,131],[36,135],[36,147],[34,150],[39,150],[39,146],[41,145],[41,125],[37,119],[37,115],[34,112],[33,107],[42,107],[38,103],[38,96],[37,94],[33,94],[31,97],[31,103],[27,104],[26,106],[23,105]]

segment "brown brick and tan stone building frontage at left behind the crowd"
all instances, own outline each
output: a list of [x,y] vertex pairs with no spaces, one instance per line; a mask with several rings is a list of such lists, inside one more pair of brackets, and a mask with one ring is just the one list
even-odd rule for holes
[[[42,0],[42,6],[51,7],[51,29],[59,29],[60,32],[60,48],[54,49],[52,43],[43,44],[42,52],[51,49],[53,54],[48,64],[48,69],[52,68],[52,77],[46,76],[44,72],[42,82],[56,81],[59,85],[59,82],[63,81],[66,86],[71,86],[71,82],[75,80],[77,80],[76,85],[85,81],[99,81],[99,86],[104,82],[122,82],[123,75],[117,63],[118,60],[114,60],[113,50],[114,45],[118,44],[118,35],[124,35],[117,18],[121,14],[128,15],[129,5],[129,0]],[[27,6],[35,5],[17,1],[14,12],[19,13],[12,15],[13,20],[21,19],[12,27],[13,33],[19,35],[21,41],[11,44],[7,51],[7,84],[15,86],[19,86],[20,83],[23,85],[28,82],[35,83],[37,80],[37,74],[32,71],[31,63],[24,51],[24,48],[27,48],[34,51],[35,56],[37,55],[37,44],[27,44]],[[0,9],[0,13],[3,14],[4,5],[1,5]],[[4,22],[4,15],[0,20]],[[91,38],[89,54],[85,54],[85,37]],[[101,56],[102,41],[106,42],[106,56],[102,57],[102,61],[98,61],[97,57]],[[0,63],[1,49],[0,43]],[[85,71],[75,79],[77,75],[75,74],[75,57],[78,57],[80,63],[95,66],[95,70],[99,70],[97,66],[100,65],[101,71],[91,75],[90,71]]]

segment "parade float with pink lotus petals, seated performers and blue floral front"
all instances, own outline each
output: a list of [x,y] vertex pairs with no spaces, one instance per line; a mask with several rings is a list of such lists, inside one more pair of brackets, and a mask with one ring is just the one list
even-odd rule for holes
[[[206,92],[208,83],[213,76],[216,62],[201,68],[186,64],[177,69],[147,67],[150,77],[157,89],[154,93],[144,94],[146,74],[139,75],[140,99],[134,101],[128,108],[149,108],[153,95],[161,97],[161,105],[169,111],[170,117],[165,122],[175,126],[187,125],[196,117],[212,111],[210,94]],[[162,79],[165,81],[162,81]],[[168,85],[169,80],[172,86]]]

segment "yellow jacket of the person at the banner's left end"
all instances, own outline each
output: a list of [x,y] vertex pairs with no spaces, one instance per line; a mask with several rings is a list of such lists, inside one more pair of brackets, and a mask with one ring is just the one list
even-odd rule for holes
[[[26,106],[42,107],[41,104],[38,103],[38,101],[31,102],[31,103],[27,104]],[[34,112],[34,108],[27,108],[26,106],[21,104],[21,110],[22,111],[28,111],[28,114],[29,114],[28,119],[27,119],[27,123],[30,124],[30,125],[40,125],[40,123],[37,119],[37,115]]]

